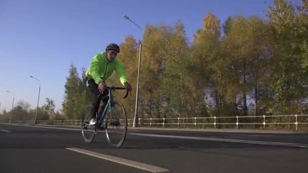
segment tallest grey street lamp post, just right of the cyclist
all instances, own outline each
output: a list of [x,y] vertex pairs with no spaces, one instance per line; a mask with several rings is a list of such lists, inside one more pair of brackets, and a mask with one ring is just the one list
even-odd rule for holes
[[142,29],[138,26],[135,22],[133,22],[128,16],[123,16],[125,19],[131,21],[141,30],[141,40],[140,40],[140,47],[139,47],[139,63],[138,63],[138,76],[137,76],[137,91],[136,91],[136,105],[135,105],[135,116],[133,127],[138,127],[138,93],[139,93],[139,76],[140,76],[140,63],[141,63],[141,49],[142,49]]

